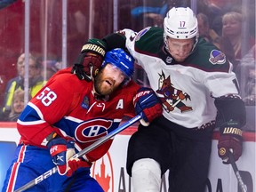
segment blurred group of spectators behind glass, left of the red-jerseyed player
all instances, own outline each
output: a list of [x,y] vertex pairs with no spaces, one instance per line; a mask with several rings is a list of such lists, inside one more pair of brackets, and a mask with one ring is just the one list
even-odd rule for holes
[[[17,76],[10,79],[4,90],[4,102],[0,109],[1,121],[17,121],[25,107],[25,53],[21,53],[16,64]],[[28,55],[28,100],[36,95],[47,80],[61,68],[58,60],[43,60]]]

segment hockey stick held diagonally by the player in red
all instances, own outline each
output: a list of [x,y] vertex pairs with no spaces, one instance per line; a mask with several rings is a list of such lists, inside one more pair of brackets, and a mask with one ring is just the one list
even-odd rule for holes
[[[127,128],[130,125],[134,124],[135,122],[139,121],[141,116],[142,115],[140,115],[140,114],[137,115],[137,116],[134,116],[129,121],[127,121],[124,124],[121,124],[119,127],[117,127],[116,130],[110,132],[106,136],[102,137],[100,140],[95,141],[94,143],[92,143],[92,145],[90,145],[89,147],[84,148],[83,150],[79,151],[76,155],[72,156],[71,158],[78,158],[79,156],[84,156],[85,154],[92,151],[94,148],[98,148],[101,144],[103,144],[104,142],[106,142],[110,138],[114,137],[117,133],[122,132],[125,128]],[[22,192],[24,190],[27,190],[28,188],[32,188],[33,186],[35,186],[38,183],[45,180],[46,178],[52,176],[52,174],[54,174],[55,172],[57,172],[57,167],[56,166],[53,167],[51,170],[49,170],[47,172],[44,172],[44,174],[38,176],[35,180],[31,180],[27,184],[25,184],[24,186],[16,189],[14,192]]]

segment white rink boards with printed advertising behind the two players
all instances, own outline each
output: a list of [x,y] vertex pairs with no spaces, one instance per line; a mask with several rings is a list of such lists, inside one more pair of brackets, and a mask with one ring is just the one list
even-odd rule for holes
[[[103,156],[92,166],[92,176],[100,182],[100,185],[106,192],[132,192],[132,182],[125,170],[127,143],[136,127],[131,126],[123,132],[116,135],[113,145],[108,154]],[[235,173],[231,165],[222,164],[217,154],[218,132],[214,132],[212,139],[212,157],[207,181],[207,192],[239,192]],[[15,124],[1,124],[0,127],[0,188],[4,182],[4,174],[11,163],[13,150],[19,141],[19,133]],[[245,183],[249,188],[255,187],[255,132],[244,132],[244,150],[243,156],[236,162],[239,170],[242,171]],[[198,167],[200,169],[200,167]],[[252,179],[252,180],[251,180]],[[48,178],[51,180],[51,177]],[[162,179],[161,192],[167,192],[167,173]],[[252,185],[252,186],[251,186]]]

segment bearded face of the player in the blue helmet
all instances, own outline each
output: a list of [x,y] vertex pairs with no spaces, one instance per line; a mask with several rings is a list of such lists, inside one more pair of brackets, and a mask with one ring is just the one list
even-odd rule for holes
[[116,66],[107,64],[94,79],[94,89],[100,95],[115,92],[125,78],[124,73]]

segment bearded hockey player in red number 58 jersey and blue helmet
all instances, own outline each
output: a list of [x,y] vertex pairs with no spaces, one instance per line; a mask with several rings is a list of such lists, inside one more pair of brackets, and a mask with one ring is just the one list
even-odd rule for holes
[[59,173],[28,191],[103,192],[90,167],[108,151],[112,139],[81,158],[68,159],[114,131],[124,115],[140,113],[145,122],[162,115],[156,94],[131,80],[134,60],[129,54],[114,49],[99,61],[93,81],[62,69],[28,102],[17,122],[20,144],[2,191],[20,188],[57,165]]

